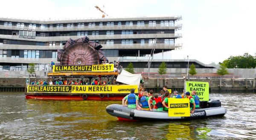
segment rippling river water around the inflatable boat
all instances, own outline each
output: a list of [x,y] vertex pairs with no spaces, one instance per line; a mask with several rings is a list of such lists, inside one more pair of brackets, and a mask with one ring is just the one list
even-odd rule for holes
[[121,101],[26,100],[0,93],[0,139],[256,139],[254,93],[210,94],[224,117],[186,121],[123,122],[105,111]]

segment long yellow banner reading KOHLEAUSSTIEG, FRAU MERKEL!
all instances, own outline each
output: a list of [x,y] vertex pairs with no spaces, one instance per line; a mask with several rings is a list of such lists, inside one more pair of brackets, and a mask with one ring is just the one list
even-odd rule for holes
[[130,93],[131,89],[138,93],[137,85],[106,85],[106,86],[88,86],[88,85],[49,85],[32,86],[28,85],[28,93]]

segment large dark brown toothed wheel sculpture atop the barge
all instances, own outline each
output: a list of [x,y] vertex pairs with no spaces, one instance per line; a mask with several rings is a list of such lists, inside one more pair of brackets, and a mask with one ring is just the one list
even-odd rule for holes
[[89,41],[87,36],[73,40],[69,39],[63,49],[58,49],[57,61],[61,65],[92,65],[107,60],[102,45]]

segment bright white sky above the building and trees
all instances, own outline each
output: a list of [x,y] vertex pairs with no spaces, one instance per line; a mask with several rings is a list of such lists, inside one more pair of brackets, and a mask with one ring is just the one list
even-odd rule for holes
[[[108,17],[182,16],[180,50],[165,59],[197,59],[209,64],[256,53],[256,0],[3,0],[0,17],[37,20]],[[108,18],[107,17],[107,18]],[[161,54],[154,58],[162,58]]]

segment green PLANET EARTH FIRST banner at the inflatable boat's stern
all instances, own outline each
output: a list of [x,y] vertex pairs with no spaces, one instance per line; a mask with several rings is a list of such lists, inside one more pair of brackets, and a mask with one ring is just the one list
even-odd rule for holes
[[190,93],[195,90],[200,101],[209,101],[209,83],[198,81],[186,81],[186,91]]

